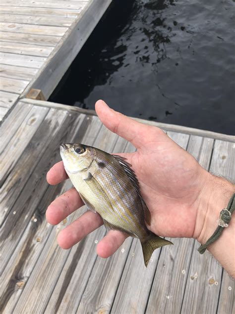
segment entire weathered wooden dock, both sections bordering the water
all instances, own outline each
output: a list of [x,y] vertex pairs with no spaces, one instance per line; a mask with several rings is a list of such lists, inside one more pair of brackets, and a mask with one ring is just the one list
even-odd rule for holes
[[[138,240],[127,238],[108,259],[96,254],[104,227],[69,250],[47,206],[71,187],[46,181],[59,144],[107,152],[134,148],[108,131],[93,111],[25,98],[34,87],[47,99],[111,0],[0,2],[0,313],[232,314],[235,282],[193,239],[154,252],[146,269]],[[235,180],[235,137],[141,120],[163,128],[207,170]]]

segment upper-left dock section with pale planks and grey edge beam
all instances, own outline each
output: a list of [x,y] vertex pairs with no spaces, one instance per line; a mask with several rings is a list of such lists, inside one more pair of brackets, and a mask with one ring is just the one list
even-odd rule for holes
[[31,88],[49,98],[111,1],[0,1],[0,121]]

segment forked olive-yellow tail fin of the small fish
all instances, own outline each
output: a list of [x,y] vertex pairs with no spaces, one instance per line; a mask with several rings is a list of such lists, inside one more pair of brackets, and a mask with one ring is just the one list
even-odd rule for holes
[[165,240],[164,238],[151,234],[150,238],[146,241],[141,242],[143,255],[144,255],[144,263],[145,266],[148,266],[149,260],[153,254],[153,251],[161,246],[173,244],[171,241]]

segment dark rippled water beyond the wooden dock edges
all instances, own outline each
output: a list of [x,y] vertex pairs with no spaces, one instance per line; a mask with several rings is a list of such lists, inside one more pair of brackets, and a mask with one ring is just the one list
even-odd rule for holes
[[235,134],[235,1],[115,0],[50,100]]

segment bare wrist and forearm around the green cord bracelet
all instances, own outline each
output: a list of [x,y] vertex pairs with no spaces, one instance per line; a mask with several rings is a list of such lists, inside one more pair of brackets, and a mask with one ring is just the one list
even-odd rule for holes
[[[231,182],[209,174],[205,189],[200,197],[200,210],[197,215],[196,228],[201,232],[196,239],[204,244],[218,227],[218,219],[222,209],[226,208],[235,193],[235,186]],[[208,246],[208,250],[235,278],[235,213],[231,216],[231,221],[227,228],[215,242]]]

